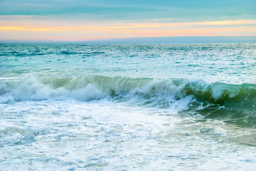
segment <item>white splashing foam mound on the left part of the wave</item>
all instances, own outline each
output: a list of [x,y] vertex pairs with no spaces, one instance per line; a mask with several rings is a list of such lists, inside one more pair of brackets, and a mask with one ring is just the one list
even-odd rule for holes
[[[99,100],[106,97],[101,90],[94,87],[92,84],[88,84],[85,88],[66,90],[62,87],[57,89],[52,89],[49,85],[42,84],[32,75],[28,74],[27,76],[21,79],[20,85],[13,91],[8,93],[12,95],[15,100],[66,100],[66,99],[75,99],[75,100]],[[2,97],[2,102],[6,102],[7,97]]]

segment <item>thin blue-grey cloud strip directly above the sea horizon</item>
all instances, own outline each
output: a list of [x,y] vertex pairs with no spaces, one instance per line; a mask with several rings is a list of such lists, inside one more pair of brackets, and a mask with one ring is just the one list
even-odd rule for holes
[[85,43],[85,44],[152,44],[152,43],[256,43],[256,35],[252,36],[157,36],[110,38],[102,40],[42,40],[42,39],[9,39],[0,43]]

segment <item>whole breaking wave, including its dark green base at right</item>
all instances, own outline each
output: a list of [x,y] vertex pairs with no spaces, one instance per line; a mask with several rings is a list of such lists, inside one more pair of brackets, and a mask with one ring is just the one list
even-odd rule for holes
[[[0,79],[0,103],[27,100],[102,100],[177,109],[209,118],[256,122],[256,84],[207,84],[201,80],[163,80],[109,76]],[[233,120],[232,120],[233,121]],[[230,122],[232,122],[230,121]]]

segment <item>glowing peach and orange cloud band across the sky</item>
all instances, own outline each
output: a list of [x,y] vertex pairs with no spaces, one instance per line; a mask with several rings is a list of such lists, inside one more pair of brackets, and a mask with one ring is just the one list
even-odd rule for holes
[[[60,24],[61,25],[61,24]],[[2,26],[4,39],[106,40],[161,36],[255,36],[256,20],[180,23],[101,23],[90,26]]]

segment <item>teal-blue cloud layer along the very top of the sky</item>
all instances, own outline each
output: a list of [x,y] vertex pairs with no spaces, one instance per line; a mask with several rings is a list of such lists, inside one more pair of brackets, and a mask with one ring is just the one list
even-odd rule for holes
[[63,16],[70,20],[242,20],[256,16],[255,0],[1,0],[0,15]]

